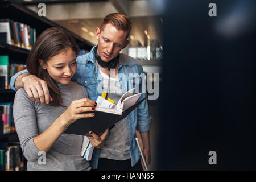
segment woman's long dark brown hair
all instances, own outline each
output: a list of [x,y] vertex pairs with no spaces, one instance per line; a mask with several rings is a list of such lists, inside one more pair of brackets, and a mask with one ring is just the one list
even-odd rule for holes
[[51,57],[67,51],[68,48],[71,48],[76,55],[80,51],[75,39],[68,32],[65,32],[63,28],[52,27],[47,28],[38,36],[28,55],[27,70],[30,74],[46,81],[49,94],[53,99],[49,104],[51,106],[63,106],[61,105],[61,92],[55,80],[49,76],[47,70],[41,67],[39,60],[47,63]]

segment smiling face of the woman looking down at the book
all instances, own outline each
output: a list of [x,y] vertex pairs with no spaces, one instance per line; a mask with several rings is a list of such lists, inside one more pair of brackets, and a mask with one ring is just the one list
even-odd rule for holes
[[67,85],[76,72],[76,53],[68,48],[67,51],[51,57],[46,64],[40,61],[42,68],[47,69],[49,76],[55,81]]

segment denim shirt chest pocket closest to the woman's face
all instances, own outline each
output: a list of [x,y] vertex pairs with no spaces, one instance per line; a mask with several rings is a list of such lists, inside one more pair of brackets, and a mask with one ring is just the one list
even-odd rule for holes
[[77,82],[85,86],[89,98],[96,96],[97,83],[95,78],[93,77],[77,78]]

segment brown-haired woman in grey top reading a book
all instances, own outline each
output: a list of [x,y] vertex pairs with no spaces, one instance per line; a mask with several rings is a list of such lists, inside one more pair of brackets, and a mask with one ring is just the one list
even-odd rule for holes
[[[78,52],[73,37],[53,27],[39,35],[28,55],[28,72],[46,81],[51,102],[32,101],[23,88],[16,92],[14,122],[27,170],[90,169],[80,155],[83,136],[63,133],[77,119],[93,117],[96,107],[96,102],[86,98],[84,86],[71,81]],[[31,88],[32,92],[36,90]]]

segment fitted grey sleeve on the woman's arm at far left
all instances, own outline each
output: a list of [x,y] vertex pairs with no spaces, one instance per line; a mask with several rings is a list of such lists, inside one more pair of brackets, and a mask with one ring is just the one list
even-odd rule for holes
[[28,161],[38,160],[40,153],[33,141],[38,135],[35,104],[23,88],[15,94],[13,117],[24,157]]

